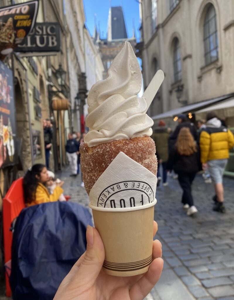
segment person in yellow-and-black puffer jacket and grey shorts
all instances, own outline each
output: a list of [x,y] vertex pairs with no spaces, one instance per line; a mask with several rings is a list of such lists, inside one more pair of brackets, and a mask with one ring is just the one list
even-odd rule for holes
[[213,210],[225,212],[223,172],[229,158],[229,149],[234,146],[234,137],[230,130],[221,125],[221,121],[214,112],[207,114],[206,121],[199,138],[202,169],[208,169],[215,184]]

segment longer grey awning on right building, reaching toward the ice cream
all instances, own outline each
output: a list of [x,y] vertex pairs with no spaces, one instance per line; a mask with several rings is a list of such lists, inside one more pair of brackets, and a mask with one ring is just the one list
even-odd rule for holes
[[201,102],[196,102],[193,104],[188,104],[183,107],[178,107],[174,110],[169,110],[165,113],[161,113],[159,115],[153,116],[153,117],[151,117],[151,119],[153,119],[155,121],[158,119],[165,119],[165,118],[169,118],[169,117],[178,116],[181,113],[194,113],[194,112],[197,112],[198,110],[211,107],[212,104],[217,104],[217,102],[221,102],[221,101],[224,101],[227,99],[231,100],[231,99],[233,99],[233,97],[234,97],[234,93],[224,95],[221,97],[217,97],[217,98],[213,98],[213,99],[209,99],[209,100],[205,100],[205,101],[201,101]]

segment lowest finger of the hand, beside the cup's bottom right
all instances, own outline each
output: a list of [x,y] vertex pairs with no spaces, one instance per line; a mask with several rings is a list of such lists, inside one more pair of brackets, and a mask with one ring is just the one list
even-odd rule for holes
[[152,261],[148,272],[132,286],[129,291],[131,300],[143,300],[158,282],[163,270],[163,259],[156,258]]

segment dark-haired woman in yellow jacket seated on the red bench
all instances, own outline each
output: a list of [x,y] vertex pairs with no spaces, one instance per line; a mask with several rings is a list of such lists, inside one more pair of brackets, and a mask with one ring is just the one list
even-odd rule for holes
[[46,166],[35,164],[30,168],[23,179],[24,201],[26,206],[58,201],[59,196],[63,193],[61,188],[64,182],[60,182],[55,187],[54,192],[50,195],[45,187],[49,176]]

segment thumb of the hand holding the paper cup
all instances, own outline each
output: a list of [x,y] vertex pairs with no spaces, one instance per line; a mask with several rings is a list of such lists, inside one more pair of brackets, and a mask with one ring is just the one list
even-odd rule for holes
[[79,276],[83,283],[87,280],[90,286],[92,286],[101,271],[105,258],[105,249],[101,236],[94,227],[87,226],[86,239],[87,248],[79,267]]

